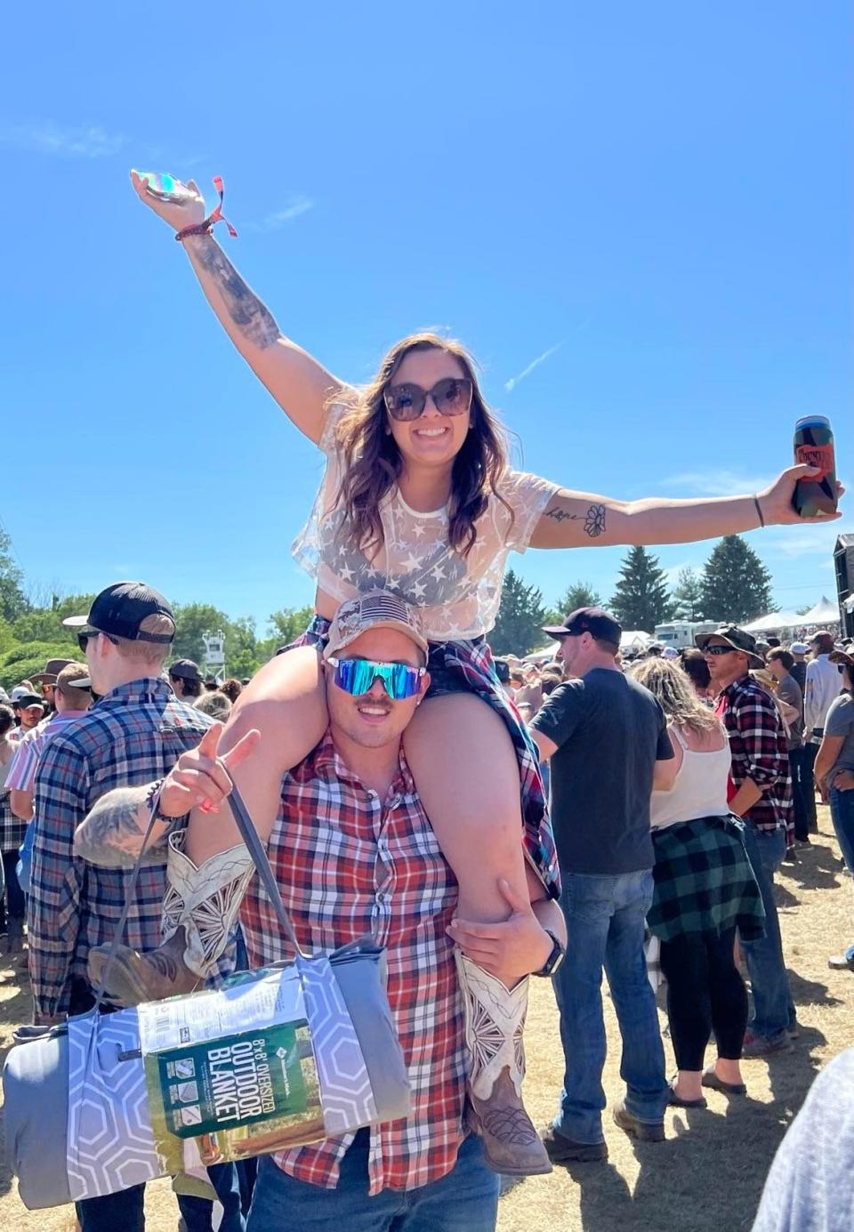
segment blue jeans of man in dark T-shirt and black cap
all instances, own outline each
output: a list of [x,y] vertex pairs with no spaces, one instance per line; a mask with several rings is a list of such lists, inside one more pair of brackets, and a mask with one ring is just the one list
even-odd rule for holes
[[566,1072],[555,1129],[574,1142],[594,1143],[603,1141],[605,1108],[603,967],[622,1036],[620,1076],[627,1110],[657,1124],[669,1098],[656,998],[643,956],[653,881],[646,870],[614,877],[564,872],[562,877],[561,907],[569,940],[553,984]]

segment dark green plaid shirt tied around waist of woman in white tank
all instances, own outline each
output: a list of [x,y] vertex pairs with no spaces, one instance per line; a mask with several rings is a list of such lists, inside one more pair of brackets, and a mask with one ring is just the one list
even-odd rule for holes
[[652,841],[654,891],[647,925],[659,940],[731,928],[746,941],[765,935],[743,822],[733,814],[677,822],[653,829]]

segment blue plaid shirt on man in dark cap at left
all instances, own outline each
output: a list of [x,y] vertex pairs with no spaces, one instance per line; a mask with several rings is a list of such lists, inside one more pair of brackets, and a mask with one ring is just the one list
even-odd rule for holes
[[[99,869],[76,857],[74,830],[105,792],[161,779],[211,722],[177,701],[163,680],[148,678],[106,694],[44,749],[35,782],[27,919],[38,1014],[68,1013],[71,979],[85,979],[90,949],[112,940],[131,877],[129,869]],[[165,857],[139,872],[124,929],[136,950],[160,944],[165,875]]]

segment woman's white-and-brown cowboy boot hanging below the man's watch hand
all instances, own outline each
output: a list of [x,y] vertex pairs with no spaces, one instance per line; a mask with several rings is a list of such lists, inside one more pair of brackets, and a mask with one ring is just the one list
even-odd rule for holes
[[521,1100],[527,976],[509,989],[455,950],[470,1052],[470,1125],[483,1138],[486,1163],[508,1177],[552,1170]]

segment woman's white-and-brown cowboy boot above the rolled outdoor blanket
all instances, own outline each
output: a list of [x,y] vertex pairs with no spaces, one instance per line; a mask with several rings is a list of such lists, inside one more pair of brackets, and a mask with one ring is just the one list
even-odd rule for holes
[[[184,854],[185,832],[169,837],[166,893],[163,898],[163,944],[140,954],[118,946],[106,992],[123,1005],[163,1000],[198,988],[222,956],[255,865],[240,844],[195,865]],[[89,954],[89,982],[101,983],[108,945]]]

